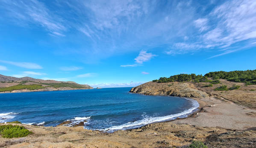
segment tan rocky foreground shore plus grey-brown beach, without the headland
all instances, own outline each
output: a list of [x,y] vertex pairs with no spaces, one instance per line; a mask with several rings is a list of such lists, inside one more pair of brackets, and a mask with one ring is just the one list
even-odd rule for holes
[[[253,114],[247,114],[255,110],[214,96],[190,99],[196,100],[199,107],[197,111],[185,118],[151,123],[139,128],[118,130],[113,133],[91,131],[82,126],[44,127],[22,124],[33,134],[13,139],[0,137],[0,147],[186,148],[193,140],[203,141],[209,147],[216,148],[241,145],[254,148],[256,146],[256,118]],[[223,107],[226,107],[226,110],[220,109]],[[230,112],[224,112],[228,110]],[[222,118],[220,118],[221,116]],[[247,121],[247,119],[253,121]],[[249,122],[249,125],[246,122]]]

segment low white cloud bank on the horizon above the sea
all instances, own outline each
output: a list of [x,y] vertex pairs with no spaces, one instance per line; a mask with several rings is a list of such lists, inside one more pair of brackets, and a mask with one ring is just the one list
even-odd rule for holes
[[91,87],[111,88],[111,87],[135,87],[144,82],[130,82],[130,83],[100,83],[100,84],[89,84]]

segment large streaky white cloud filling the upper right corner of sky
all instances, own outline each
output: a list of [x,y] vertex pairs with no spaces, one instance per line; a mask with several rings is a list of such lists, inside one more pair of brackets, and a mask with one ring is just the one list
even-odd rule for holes
[[[202,49],[225,51],[225,48],[230,47],[228,51],[210,57],[215,58],[245,49],[243,48],[243,42],[246,42],[247,46],[255,46],[253,44],[256,40],[255,7],[255,0],[228,0],[215,7],[212,12],[203,18],[194,20],[194,25],[199,30],[199,33],[194,35],[196,39],[189,37],[189,39],[194,40],[175,43],[174,46],[170,47],[171,50],[166,53],[175,55]],[[241,46],[237,46],[237,44],[241,44]]]

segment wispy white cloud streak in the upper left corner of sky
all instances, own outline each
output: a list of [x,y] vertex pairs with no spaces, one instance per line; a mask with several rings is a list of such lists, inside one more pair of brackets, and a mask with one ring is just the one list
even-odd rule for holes
[[1,8],[6,10],[10,20],[17,24],[38,24],[52,35],[65,36],[59,32],[65,31],[63,20],[52,13],[44,3],[38,0],[2,0]]

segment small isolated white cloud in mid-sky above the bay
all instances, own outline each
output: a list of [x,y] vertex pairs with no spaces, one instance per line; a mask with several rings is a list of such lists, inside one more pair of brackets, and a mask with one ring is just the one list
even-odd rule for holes
[[135,64],[121,65],[121,67],[135,67],[143,64],[143,62],[150,61],[151,58],[155,57],[152,53],[148,53],[145,50],[141,50],[139,55],[134,59]]

